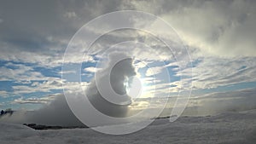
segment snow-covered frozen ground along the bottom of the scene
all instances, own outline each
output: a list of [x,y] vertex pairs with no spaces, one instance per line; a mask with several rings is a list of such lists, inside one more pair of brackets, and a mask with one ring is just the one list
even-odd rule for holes
[[183,117],[174,123],[157,119],[130,135],[104,135],[90,129],[32,130],[19,124],[0,124],[1,144],[79,143],[256,143],[256,110],[228,112],[213,117]]

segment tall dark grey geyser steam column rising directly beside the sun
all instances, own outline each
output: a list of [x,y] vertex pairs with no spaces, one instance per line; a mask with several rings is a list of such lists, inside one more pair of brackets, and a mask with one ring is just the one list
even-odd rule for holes
[[[86,90],[88,99],[99,112],[110,117],[125,117],[131,104],[125,81],[136,75],[132,59],[123,53],[112,53],[103,66]],[[97,68],[100,69],[99,65]]]

